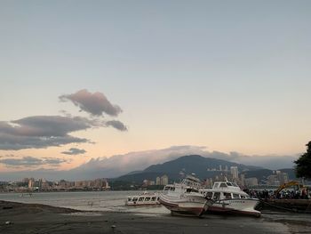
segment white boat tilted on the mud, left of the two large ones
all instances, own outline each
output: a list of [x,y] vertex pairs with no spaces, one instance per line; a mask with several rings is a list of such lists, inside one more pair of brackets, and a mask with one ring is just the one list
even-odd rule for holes
[[160,203],[171,211],[171,214],[191,214],[201,216],[211,206],[211,199],[199,192],[200,181],[187,175],[180,183],[168,184],[160,194]]

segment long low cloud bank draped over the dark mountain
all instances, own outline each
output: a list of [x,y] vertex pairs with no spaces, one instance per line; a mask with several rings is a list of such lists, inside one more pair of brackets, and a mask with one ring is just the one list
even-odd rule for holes
[[[96,173],[101,173],[104,177],[117,177],[124,173],[140,171],[149,165],[162,164],[177,157],[186,155],[201,155],[235,162],[243,165],[263,166],[268,169],[292,168],[293,160],[298,156],[245,156],[237,152],[208,151],[202,146],[171,146],[166,149],[152,149],[137,152],[130,152],[124,155],[112,157],[92,158],[84,165],[80,165],[69,173],[82,176],[89,175],[90,178]],[[92,176],[91,176],[92,175]]]

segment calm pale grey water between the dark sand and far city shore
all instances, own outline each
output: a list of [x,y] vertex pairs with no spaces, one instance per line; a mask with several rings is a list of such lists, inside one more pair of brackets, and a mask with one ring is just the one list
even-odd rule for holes
[[169,213],[163,206],[124,206],[127,196],[138,194],[140,194],[140,191],[36,192],[31,197],[21,197],[21,193],[0,193],[0,200],[37,203],[87,211]]

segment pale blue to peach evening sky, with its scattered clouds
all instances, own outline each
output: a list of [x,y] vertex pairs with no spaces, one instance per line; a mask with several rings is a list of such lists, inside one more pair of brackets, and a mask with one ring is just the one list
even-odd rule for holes
[[0,172],[311,141],[310,1],[0,0]]

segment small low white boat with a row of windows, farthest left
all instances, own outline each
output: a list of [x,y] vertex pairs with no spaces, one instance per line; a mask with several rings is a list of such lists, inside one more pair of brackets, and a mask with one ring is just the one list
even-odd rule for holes
[[126,206],[159,205],[159,193],[147,192],[139,195],[129,196],[125,200]]

